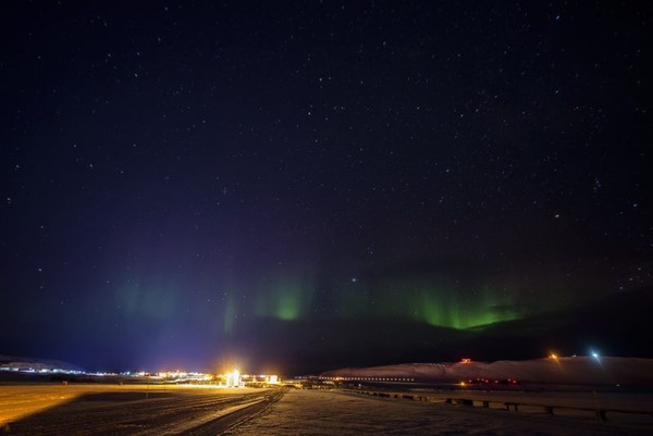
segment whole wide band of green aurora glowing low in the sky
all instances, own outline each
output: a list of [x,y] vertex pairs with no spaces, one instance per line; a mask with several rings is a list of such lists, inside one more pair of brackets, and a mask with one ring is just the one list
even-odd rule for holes
[[[395,319],[423,323],[435,327],[468,329],[498,322],[518,320],[534,313],[526,301],[519,281],[496,281],[493,284],[460,283],[427,274],[377,279],[341,279],[316,286],[320,281],[310,269],[288,269],[268,273],[258,283],[221,286],[219,300],[205,299],[207,304],[192,312],[183,304],[178,277],[162,275],[158,281],[125,279],[116,288],[116,304],[130,319],[170,320],[180,314],[213,319],[212,331],[233,335],[247,319],[275,319],[283,322],[326,316],[342,320]],[[553,283],[542,286],[554,288]],[[202,295],[209,296],[210,284]],[[238,289],[247,289],[246,292]],[[321,290],[317,290],[321,289]],[[199,291],[198,291],[199,292]],[[559,306],[556,292],[538,310]],[[183,312],[185,311],[185,312]]]

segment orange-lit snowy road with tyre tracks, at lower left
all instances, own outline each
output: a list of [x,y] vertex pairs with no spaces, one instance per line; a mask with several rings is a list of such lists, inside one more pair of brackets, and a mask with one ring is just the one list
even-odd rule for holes
[[[283,394],[151,386],[0,387],[0,429],[30,436],[213,436],[259,414]],[[36,410],[26,414],[30,406]]]

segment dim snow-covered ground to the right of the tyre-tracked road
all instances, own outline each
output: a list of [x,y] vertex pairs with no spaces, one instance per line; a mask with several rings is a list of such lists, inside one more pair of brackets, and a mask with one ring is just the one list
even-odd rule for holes
[[601,424],[591,414],[546,415],[385,399],[344,391],[291,390],[230,435],[648,435],[653,416]]

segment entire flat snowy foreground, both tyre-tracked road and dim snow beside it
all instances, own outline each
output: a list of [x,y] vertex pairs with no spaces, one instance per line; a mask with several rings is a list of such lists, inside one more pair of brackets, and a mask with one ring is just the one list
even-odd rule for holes
[[[369,394],[369,393],[368,393]],[[346,390],[217,389],[169,386],[0,386],[0,435],[650,435],[653,415],[608,414],[596,420],[583,409],[648,410],[650,395],[600,397],[587,393],[465,393],[490,399],[489,408],[436,397],[416,400]],[[457,395],[447,394],[453,399]],[[488,397],[493,395],[492,397]],[[506,400],[560,406],[497,409]],[[575,409],[576,408],[576,409]]]

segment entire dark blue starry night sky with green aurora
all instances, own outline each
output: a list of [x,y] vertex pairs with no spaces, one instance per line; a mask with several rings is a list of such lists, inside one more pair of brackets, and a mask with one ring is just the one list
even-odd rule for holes
[[3,1],[0,353],[282,373],[653,357],[652,20]]

